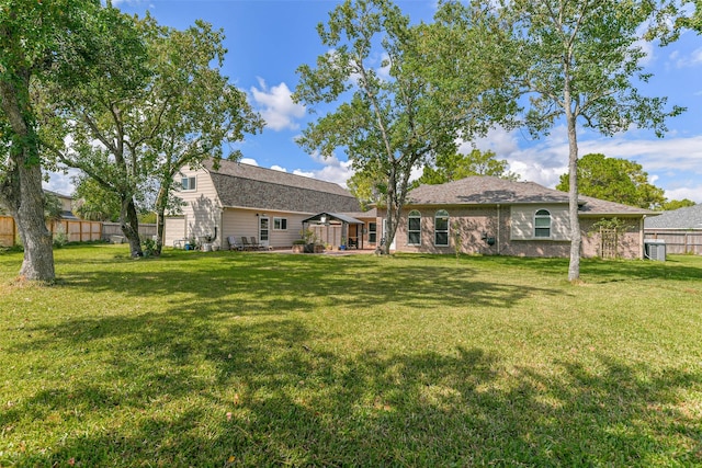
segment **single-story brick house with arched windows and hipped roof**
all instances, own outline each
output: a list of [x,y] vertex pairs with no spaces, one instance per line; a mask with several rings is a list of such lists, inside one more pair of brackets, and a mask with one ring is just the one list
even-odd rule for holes
[[[654,212],[579,199],[584,256],[644,256],[644,218]],[[607,232],[604,239],[591,232],[599,220],[614,217],[626,224],[625,232]],[[567,193],[533,182],[472,176],[409,192],[390,249],[453,253],[458,239],[464,253],[567,258],[569,226]]]

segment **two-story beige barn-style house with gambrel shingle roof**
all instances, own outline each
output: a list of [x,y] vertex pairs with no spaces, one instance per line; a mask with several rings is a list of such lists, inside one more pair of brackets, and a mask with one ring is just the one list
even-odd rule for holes
[[301,239],[303,220],[321,213],[359,212],[347,190],[331,182],[223,160],[200,170],[183,168],[178,196],[185,206],[166,218],[165,246],[183,239],[228,249],[227,238],[254,237],[263,246],[284,249]]

